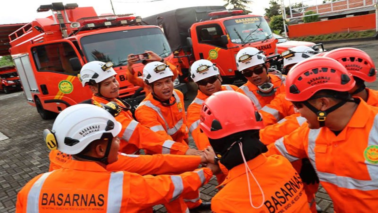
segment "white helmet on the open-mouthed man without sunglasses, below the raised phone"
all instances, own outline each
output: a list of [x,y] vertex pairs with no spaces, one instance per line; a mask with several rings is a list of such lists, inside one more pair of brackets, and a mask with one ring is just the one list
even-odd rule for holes
[[160,61],[152,61],[143,68],[143,80],[152,83],[162,78],[173,76],[167,64]]

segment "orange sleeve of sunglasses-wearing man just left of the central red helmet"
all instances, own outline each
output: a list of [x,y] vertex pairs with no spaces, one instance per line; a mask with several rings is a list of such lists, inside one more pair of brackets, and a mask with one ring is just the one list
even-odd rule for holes
[[208,137],[200,131],[200,111],[201,105],[197,103],[192,103],[189,105],[187,109],[187,124],[189,127],[189,132],[192,134],[194,143],[198,150],[204,150],[210,146],[210,143]]

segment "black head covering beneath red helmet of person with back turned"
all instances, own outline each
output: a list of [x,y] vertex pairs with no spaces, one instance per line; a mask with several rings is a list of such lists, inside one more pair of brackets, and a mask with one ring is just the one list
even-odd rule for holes
[[243,144],[243,153],[246,161],[256,158],[268,149],[259,139],[259,131],[248,130],[235,133],[221,139],[209,138],[214,152],[220,157],[222,163],[228,170],[243,164],[242,154],[240,153],[239,143]]

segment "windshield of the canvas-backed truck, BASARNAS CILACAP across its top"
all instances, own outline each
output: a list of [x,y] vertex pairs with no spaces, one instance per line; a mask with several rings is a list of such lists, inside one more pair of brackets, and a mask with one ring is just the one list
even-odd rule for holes
[[254,16],[225,20],[230,40],[235,44],[265,41],[272,38],[272,31],[263,17]]

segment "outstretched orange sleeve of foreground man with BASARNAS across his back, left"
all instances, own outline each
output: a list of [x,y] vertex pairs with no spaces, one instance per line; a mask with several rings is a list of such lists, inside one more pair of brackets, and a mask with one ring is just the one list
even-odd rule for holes
[[133,196],[126,196],[129,197],[128,202],[130,204],[147,208],[170,202],[177,199],[181,194],[198,190],[209,182],[212,175],[209,168],[201,168],[180,175],[141,176],[131,173],[130,180],[126,181],[130,184],[128,190],[132,192]]

